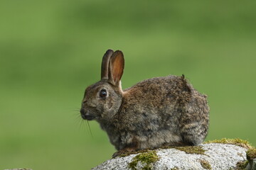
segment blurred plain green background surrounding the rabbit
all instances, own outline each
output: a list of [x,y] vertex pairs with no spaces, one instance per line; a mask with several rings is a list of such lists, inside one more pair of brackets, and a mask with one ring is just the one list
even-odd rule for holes
[[114,147],[82,121],[102,55],[122,50],[122,86],[185,74],[208,94],[206,140],[256,145],[256,1],[0,1],[0,169],[90,169]]

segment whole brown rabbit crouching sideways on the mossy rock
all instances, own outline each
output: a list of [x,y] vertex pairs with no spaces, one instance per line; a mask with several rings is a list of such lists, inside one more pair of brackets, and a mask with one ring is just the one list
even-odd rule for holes
[[100,123],[118,150],[114,156],[203,142],[209,124],[207,96],[183,75],[146,79],[122,90],[124,55],[119,50],[107,50],[101,69],[101,80],[85,90],[80,113]]

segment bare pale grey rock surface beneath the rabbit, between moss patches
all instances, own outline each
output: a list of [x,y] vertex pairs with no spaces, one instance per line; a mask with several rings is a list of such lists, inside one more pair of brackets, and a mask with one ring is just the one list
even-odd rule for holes
[[[202,144],[203,154],[187,154],[179,149],[156,149],[159,160],[150,163],[150,169],[236,169],[238,162],[245,162],[247,149],[229,144]],[[92,168],[96,169],[131,169],[130,163],[138,154],[117,157]],[[145,163],[138,162],[134,169],[143,169]]]

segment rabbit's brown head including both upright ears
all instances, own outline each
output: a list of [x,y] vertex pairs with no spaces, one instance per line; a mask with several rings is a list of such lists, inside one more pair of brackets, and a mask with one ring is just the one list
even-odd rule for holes
[[107,50],[102,58],[101,80],[85,90],[80,110],[83,119],[104,121],[117,113],[122,103],[120,79],[123,70],[122,52]]

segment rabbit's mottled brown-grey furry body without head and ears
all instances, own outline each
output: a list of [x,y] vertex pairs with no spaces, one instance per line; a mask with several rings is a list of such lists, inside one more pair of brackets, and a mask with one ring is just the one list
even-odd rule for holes
[[206,96],[183,76],[146,79],[124,90],[112,125],[108,134],[117,149],[198,145],[208,130]]

